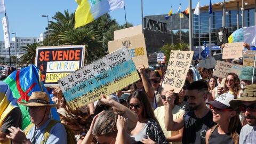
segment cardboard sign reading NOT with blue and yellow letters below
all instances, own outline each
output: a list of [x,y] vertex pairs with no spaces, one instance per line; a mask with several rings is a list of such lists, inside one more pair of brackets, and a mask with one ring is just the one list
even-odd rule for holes
[[148,67],[148,56],[143,34],[108,42],[108,52],[114,52],[119,49],[119,47],[123,46],[125,46],[129,51],[137,69],[139,66],[141,66],[141,64],[143,64],[146,68]]

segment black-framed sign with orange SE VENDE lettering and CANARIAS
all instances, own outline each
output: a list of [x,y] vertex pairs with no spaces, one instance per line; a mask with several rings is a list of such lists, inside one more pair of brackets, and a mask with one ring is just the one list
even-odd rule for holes
[[85,45],[37,47],[35,66],[46,86],[84,66]]

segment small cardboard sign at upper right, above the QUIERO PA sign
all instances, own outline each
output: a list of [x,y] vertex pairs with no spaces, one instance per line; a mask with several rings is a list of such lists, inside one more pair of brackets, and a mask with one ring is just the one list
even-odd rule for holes
[[244,42],[226,43],[223,48],[222,59],[233,59],[243,57]]

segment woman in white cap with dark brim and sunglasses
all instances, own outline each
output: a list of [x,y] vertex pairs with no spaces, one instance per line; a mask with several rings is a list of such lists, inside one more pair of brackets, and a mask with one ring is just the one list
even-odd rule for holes
[[232,109],[229,104],[229,101],[234,100],[234,98],[234,95],[230,93],[223,93],[214,101],[207,102],[212,110],[212,120],[217,124],[206,132],[206,144],[238,144],[242,124],[239,119],[238,111]]

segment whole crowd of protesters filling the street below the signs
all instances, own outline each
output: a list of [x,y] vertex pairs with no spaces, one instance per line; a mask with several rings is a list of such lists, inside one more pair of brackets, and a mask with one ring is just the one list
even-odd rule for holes
[[[0,81],[0,143],[255,143],[253,67],[224,78],[190,67],[179,93],[164,91],[161,65],[141,65],[138,74],[139,81],[80,108],[66,102],[59,86],[17,102]],[[24,130],[18,103],[30,116]],[[51,108],[61,122],[51,119]]]

